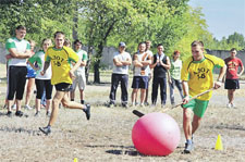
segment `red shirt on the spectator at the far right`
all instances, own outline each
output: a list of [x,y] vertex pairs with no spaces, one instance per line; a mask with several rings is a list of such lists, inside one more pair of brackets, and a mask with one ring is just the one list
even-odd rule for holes
[[224,59],[224,62],[228,66],[226,70],[226,78],[228,79],[237,79],[237,71],[238,71],[238,66],[243,66],[243,62],[241,61],[241,59],[238,58],[226,58]]

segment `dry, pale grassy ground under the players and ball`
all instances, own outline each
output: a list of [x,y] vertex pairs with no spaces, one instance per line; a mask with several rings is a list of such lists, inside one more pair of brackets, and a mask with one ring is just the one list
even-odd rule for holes
[[[177,122],[182,135],[175,151],[168,157],[146,157],[134,148],[131,132],[138,120],[133,109],[150,113],[161,108],[115,107],[109,109],[102,104],[108,100],[110,87],[87,86],[86,101],[91,103],[91,119],[78,110],[61,108],[57,123],[50,136],[42,135],[38,127],[46,126],[48,117],[41,110],[40,117],[34,117],[34,110],[24,110],[28,117],[7,117],[3,108],[4,84],[1,85],[0,102],[0,161],[1,162],[79,162],[88,161],[245,161],[245,111],[244,87],[236,92],[236,109],[228,109],[226,91],[223,87],[213,92],[209,108],[200,128],[194,137],[195,150],[183,154],[184,135],[182,129],[182,109],[167,112]],[[130,88],[131,89],[131,88]],[[130,90],[131,92],[131,90]],[[175,91],[175,95],[177,92]],[[120,99],[118,90],[118,100]],[[78,96],[77,96],[78,97]],[[180,98],[177,98],[180,101]],[[168,98],[168,107],[169,98]],[[34,104],[34,101],[32,101]],[[221,135],[224,150],[215,150],[218,135]]]

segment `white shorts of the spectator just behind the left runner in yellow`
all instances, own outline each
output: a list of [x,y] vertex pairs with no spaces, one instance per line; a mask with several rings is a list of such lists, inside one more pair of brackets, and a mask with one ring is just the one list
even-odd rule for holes
[[84,90],[86,87],[86,77],[84,72],[76,71],[75,72],[75,79],[72,84],[72,91],[76,89],[76,85],[78,85],[78,88]]

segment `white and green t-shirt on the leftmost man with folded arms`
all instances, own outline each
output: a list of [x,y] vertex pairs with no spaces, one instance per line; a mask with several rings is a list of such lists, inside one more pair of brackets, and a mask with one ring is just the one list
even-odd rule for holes
[[[15,48],[17,52],[24,53],[26,50],[30,50],[30,45],[25,39],[19,40],[16,37],[9,38],[5,43],[7,54],[10,54],[9,49]],[[8,62],[12,66],[26,66],[26,59],[10,59]]]

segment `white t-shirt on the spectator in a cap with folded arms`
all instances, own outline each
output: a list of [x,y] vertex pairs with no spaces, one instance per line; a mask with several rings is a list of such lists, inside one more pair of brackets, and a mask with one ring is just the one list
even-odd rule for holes
[[[131,59],[131,54],[127,52],[120,53],[119,51],[114,52],[113,60],[117,59],[119,61],[126,61]],[[113,74],[128,74],[128,65],[117,66],[113,63]]]

